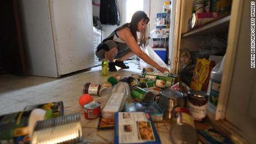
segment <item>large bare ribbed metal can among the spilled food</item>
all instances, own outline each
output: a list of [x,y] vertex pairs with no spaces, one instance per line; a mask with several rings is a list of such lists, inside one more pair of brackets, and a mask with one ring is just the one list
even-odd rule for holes
[[185,96],[182,92],[172,89],[163,89],[160,91],[159,106],[164,113],[164,120],[171,119],[173,108],[185,106]]

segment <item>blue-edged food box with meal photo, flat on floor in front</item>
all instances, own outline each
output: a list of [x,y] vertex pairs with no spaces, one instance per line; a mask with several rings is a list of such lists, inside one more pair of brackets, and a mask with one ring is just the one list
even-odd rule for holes
[[149,113],[116,112],[114,143],[161,143]]

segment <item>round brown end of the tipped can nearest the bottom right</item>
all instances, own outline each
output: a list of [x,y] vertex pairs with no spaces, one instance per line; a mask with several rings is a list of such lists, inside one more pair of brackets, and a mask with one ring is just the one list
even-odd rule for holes
[[174,143],[194,144],[198,142],[197,132],[190,125],[172,125],[170,136]]

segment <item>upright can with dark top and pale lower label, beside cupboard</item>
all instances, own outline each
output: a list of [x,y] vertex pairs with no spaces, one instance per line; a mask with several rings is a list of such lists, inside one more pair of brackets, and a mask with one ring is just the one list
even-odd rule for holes
[[187,108],[194,120],[201,121],[206,116],[209,96],[203,91],[190,90],[188,93]]

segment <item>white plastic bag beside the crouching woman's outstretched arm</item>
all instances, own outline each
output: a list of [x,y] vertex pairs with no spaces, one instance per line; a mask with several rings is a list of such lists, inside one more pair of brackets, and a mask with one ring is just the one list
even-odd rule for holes
[[[144,53],[146,53],[147,56],[149,56],[153,61],[155,61],[157,64],[159,64],[159,66],[168,68],[167,65],[164,63],[164,61],[155,53],[155,51],[152,48],[150,48],[149,45],[147,45],[144,48],[140,47],[140,49]],[[143,69],[144,67],[152,67],[152,66],[150,64],[147,64],[140,58],[140,68]],[[154,67],[152,67],[152,68],[154,68]],[[154,68],[154,71],[158,71],[158,70],[156,68]]]

